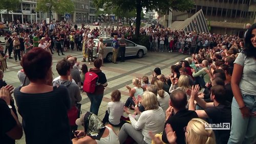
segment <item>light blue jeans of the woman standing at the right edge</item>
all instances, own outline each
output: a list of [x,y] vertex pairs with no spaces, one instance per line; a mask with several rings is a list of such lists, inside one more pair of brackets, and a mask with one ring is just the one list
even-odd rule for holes
[[[251,110],[256,111],[256,96],[242,94],[244,104]],[[228,144],[231,143],[255,143],[256,142],[256,117],[243,118],[236,99],[233,98],[232,125]]]

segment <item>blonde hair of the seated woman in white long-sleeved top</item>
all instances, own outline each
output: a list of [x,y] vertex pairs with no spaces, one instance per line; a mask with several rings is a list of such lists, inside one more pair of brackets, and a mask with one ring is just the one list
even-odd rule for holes
[[145,110],[157,109],[159,106],[156,94],[150,91],[144,92],[141,105]]

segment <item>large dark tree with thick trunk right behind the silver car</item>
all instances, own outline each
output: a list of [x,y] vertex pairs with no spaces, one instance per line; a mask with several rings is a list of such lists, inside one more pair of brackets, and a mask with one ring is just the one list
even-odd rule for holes
[[146,11],[156,10],[159,13],[166,13],[169,10],[186,11],[194,6],[193,0],[94,0],[97,8],[102,8],[103,5],[107,7],[117,7],[124,11],[136,10],[136,30],[135,36],[139,37],[140,20],[142,8]]

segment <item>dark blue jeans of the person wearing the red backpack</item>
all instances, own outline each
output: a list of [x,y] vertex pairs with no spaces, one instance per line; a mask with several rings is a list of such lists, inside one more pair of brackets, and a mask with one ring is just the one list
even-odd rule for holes
[[98,115],[99,106],[103,98],[103,93],[102,94],[87,93],[87,96],[91,101],[90,112]]

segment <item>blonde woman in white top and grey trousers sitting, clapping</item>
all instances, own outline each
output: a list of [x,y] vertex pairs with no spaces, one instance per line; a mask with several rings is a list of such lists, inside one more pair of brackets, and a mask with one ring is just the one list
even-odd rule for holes
[[152,139],[148,132],[162,132],[165,115],[163,109],[158,105],[156,95],[153,92],[145,92],[141,104],[144,106],[145,111],[141,113],[138,121],[136,121],[127,107],[124,108],[126,114],[129,115],[131,124],[125,123],[121,127],[118,135],[120,143],[124,143],[128,136],[137,143],[151,143]]

